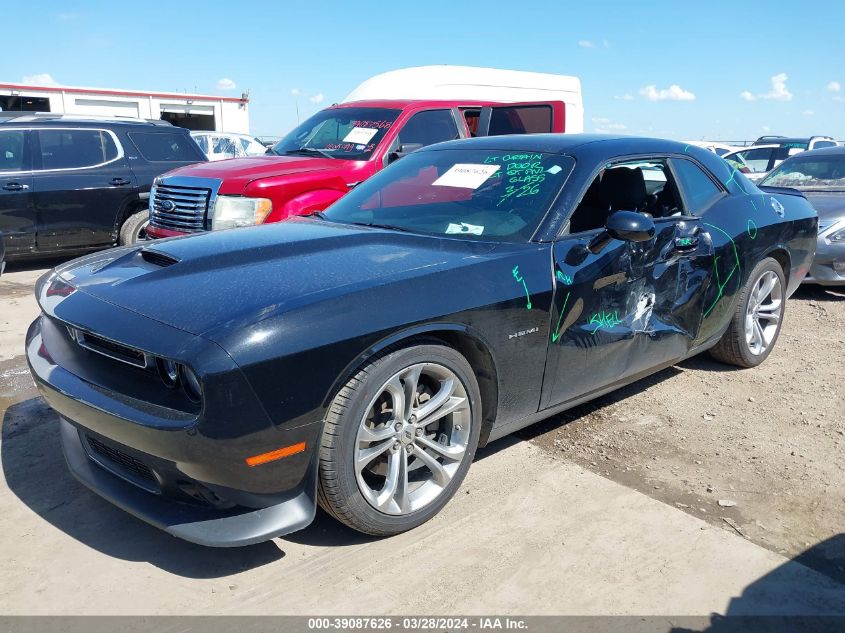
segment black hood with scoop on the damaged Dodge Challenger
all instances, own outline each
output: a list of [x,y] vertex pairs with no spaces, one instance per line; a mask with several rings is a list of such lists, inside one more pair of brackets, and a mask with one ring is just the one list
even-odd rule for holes
[[204,335],[458,266],[493,247],[303,218],[112,249],[56,272],[102,301]]

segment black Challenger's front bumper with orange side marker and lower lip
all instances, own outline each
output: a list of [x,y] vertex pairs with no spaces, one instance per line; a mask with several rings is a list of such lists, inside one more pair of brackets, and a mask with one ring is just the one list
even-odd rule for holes
[[[68,371],[43,343],[39,318],[27,334],[30,371],[61,417],[70,471],[103,498],[211,547],[259,543],[313,521],[320,422],[285,430],[270,425],[246,437],[237,429],[225,438],[219,429],[209,435],[203,414],[165,421],[160,407]],[[298,442],[307,452],[254,468],[244,463],[244,456]]]

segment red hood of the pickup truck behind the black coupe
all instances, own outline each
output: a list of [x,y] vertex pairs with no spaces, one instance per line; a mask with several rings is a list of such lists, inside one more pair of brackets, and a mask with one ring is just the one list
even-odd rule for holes
[[335,158],[264,155],[197,163],[168,172],[165,177],[219,178],[227,185],[238,183],[243,188],[253,180],[274,176],[291,176],[302,172],[341,170],[347,168],[349,164],[350,161]]

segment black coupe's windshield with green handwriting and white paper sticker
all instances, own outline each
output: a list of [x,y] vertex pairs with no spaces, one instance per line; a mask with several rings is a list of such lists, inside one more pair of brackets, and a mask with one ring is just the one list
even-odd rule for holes
[[526,241],[574,160],[507,150],[417,151],[333,204],[328,220],[484,241]]

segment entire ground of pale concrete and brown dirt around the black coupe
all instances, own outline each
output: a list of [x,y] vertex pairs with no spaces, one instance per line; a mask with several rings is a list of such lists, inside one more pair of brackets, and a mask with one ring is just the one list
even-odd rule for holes
[[0,612],[845,613],[845,292],[790,300],[755,370],[699,357],[494,442],[418,530],[318,513],[221,551],[68,473],[22,356],[41,272],[0,279]]

